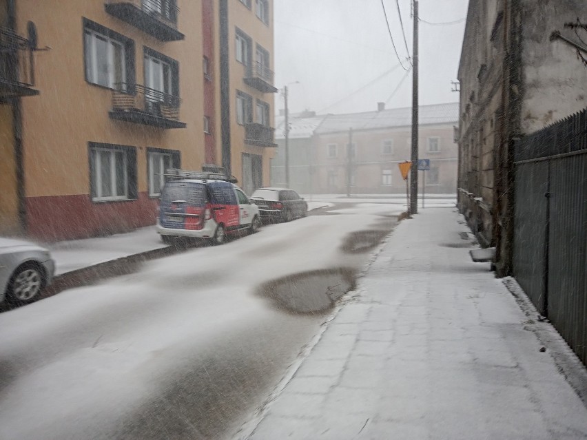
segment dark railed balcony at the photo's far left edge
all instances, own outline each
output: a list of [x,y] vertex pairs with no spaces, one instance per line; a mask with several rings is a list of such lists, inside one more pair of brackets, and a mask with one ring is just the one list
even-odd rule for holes
[[0,27],[0,98],[34,96],[34,45]]

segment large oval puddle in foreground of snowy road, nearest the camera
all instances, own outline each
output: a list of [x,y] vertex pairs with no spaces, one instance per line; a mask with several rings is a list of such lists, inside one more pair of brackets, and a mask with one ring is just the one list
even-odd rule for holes
[[336,300],[356,289],[356,269],[340,267],[296,273],[262,284],[258,295],[281,311],[325,313]]

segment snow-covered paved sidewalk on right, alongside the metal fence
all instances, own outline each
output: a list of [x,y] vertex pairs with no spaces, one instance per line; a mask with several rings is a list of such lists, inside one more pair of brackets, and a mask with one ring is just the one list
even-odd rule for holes
[[535,335],[550,324],[471,262],[466,232],[454,208],[402,221],[239,438],[586,439],[586,406]]

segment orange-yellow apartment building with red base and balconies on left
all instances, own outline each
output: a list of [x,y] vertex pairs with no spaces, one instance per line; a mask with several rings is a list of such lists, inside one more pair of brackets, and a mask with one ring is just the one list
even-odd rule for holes
[[[250,144],[272,136],[271,121],[261,121],[265,132],[249,116],[240,125],[236,90],[272,95],[247,88],[256,77],[239,77],[244,64],[221,31],[231,23],[230,35],[238,26],[272,52],[259,10],[265,17],[240,0],[0,0],[12,59],[0,65],[0,233],[62,240],[143,227],[154,224],[167,167],[222,161],[241,182],[257,169],[244,155],[268,167],[267,147]],[[227,107],[223,84],[234,96]],[[234,116],[229,160],[225,114]]]

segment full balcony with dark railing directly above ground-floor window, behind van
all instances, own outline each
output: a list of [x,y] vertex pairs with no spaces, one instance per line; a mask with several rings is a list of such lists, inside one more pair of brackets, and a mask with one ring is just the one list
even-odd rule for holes
[[185,128],[179,121],[178,96],[159,92],[143,85],[119,85],[112,90],[110,118],[159,128]]

